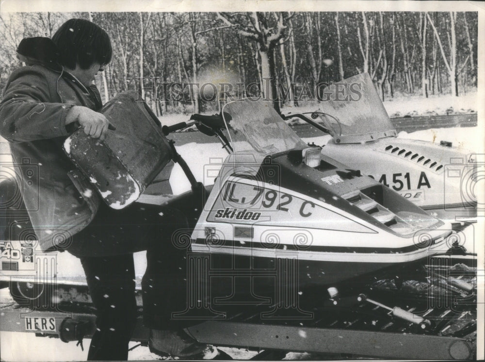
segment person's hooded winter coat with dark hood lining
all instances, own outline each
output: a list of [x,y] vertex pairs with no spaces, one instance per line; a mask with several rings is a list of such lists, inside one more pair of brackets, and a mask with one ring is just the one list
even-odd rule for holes
[[68,247],[99,206],[96,192],[62,149],[74,130],[65,126],[67,113],[73,106],[99,110],[99,92],[53,61],[52,45],[48,38],[22,41],[17,53],[30,65],[12,73],[0,103],[0,134],[10,142],[17,184],[44,251]]

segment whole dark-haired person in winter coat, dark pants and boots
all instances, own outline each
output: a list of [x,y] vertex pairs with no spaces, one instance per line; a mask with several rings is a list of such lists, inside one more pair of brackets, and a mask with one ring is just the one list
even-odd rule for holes
[[[17,180],[32,229],[43,251],[67,250],[81,260],[97,310],[88,360],[127,360],[137,317],[133,252],[148,249],[149,265],[156,266],[163,280],[170,280],[185,260],[186,250],[162,241],[186,228],[186,220],[176,211],[166,210],[162,216],[155,205],[135,203],[123,210],[110,209],[62,149],[65,139],[79,127],[99,141],[111,132],[108,120],[98,112],[101,98],[92,84],[112,58],[106,31],[90,21],[70,19],[52,39],[23,39],[17,57],[27,65],[7,80],[0,102],[0,134],[9,141],[15,164],[38,170],[37,174],[20,173]],[[154,283],[150,275],[144,276],[142,284],[147,288]],[[184,283],[178,275],[171,283],[159,285],[154,298],[147,299],[146,324],[152,315],[160,315],[160,305],[178,310],[167,291],[183,295]],[[148,327],[164,330],[155,331],[166,341],[159,343],[166,347],[164,351],[204,356],[208,346],[161,323]],[[157,352],[156,346],[152,349]],[[218,356],[217,350],[211,353]]]

